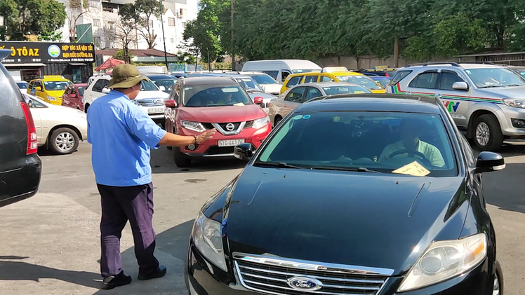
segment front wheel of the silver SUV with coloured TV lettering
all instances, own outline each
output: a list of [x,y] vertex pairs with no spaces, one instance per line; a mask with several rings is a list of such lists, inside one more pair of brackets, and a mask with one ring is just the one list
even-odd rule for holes
[[472,142],[479,151],[498,151],[503,144],[500,123],[494,115],[481,115],[472,125]]

